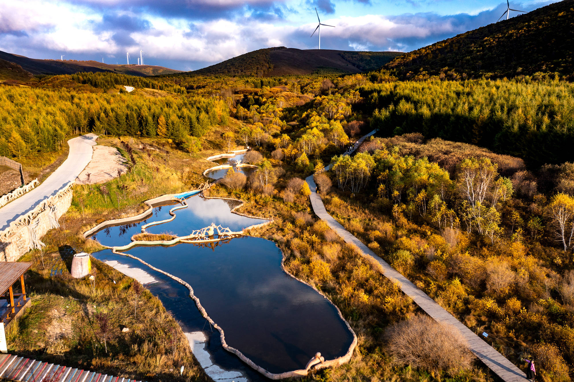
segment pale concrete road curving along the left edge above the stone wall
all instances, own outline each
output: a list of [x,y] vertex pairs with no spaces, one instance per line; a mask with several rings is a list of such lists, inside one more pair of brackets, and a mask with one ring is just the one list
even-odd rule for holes
[[73,181],[92,159],[92,146],[96,145],[95,134],[86,134],[68,141],[70,151],[68,158],[46,178],[41,185],[29,193],[0,208],[0,231],[6,229],[11,221],[32,210],[45,198],[56,194],[61,188]]

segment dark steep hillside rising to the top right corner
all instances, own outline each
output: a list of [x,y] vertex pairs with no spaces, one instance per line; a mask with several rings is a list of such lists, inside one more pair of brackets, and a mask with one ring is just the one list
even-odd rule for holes
[[574,0],[565,0],[413,50],[385,65],[400,79],[444,73],[514,77],[574,72]]

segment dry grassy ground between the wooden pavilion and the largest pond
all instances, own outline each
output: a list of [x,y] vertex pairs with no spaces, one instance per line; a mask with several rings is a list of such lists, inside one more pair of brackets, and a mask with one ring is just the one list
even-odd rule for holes
[[[133,279],[92,259],[92,287],[87,278],[69,274],[71,254],[62,250],[44,255],[45,268],[40,251],[22,258],[34,263],[26,273],[32,306],[11,326],[11,352],[130,379],[208,381],[179,325],[157,297],[144,290],[136,316]],[[61,270],[61,275],[51,275],[52,270]],[[107,352],[95,319],[99,313],[110,320]]]

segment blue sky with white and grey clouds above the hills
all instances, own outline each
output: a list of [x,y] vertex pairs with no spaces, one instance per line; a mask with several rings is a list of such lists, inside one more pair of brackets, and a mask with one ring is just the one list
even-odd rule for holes
[[[530,11],[553,1],[511,1]],[[193,70],[269,46],[408,52],[479,26],[497,0],[0,0],[0,50],[37,59]],[[511,12],[511,17],[517,15]],[[501,21],[503,22],[503,21]]]

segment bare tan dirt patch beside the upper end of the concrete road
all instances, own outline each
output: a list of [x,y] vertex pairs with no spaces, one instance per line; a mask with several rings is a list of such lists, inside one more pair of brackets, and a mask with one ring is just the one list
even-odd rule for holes
[[[88,166],[78,177],[83,184],[105,183],[118,177],[118,170],[123,174],[127,171],[126,158],[118,149],[110,146],[94,146],[94,155]],[[88,174],[90,181],[88,182]]]

